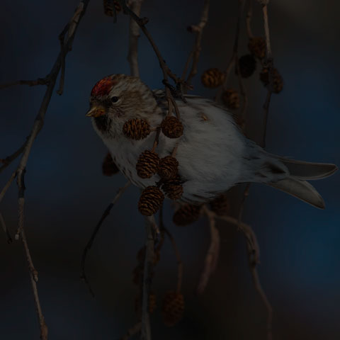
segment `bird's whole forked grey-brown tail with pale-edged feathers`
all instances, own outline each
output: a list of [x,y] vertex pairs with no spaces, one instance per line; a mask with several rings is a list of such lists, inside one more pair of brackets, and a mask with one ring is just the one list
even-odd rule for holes
[[268,185],[300,198],[300,200],[310,203],[316,208],[324,209],[324,200],[306,180],[324,179],[331,176],[338,169],[337,166],[335,164],[302,162],[286,158],[281,158],[280,161],[288,168],[290,176],[276,183],[268,183]]

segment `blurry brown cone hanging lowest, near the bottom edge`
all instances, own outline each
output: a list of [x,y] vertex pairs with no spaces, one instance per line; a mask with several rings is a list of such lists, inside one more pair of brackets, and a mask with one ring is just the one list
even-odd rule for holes
[[174,326],[183,317],[184,298],[181,293],[168,290],[163,300],[163,320],[166,326]]

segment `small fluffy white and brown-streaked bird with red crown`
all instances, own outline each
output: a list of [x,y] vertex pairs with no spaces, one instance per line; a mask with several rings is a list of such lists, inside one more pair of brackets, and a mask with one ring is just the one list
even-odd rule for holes
[[[181,202],[208,203],[239,183],[263,183],[324,209],[322,196],[308,181],[334,174],[335,164],[266,152],[244,135],[227,108],[208,98],[186,94],[175,101],[183,135],[169,138],[159,133],[157,154],[167,157],[176,148]],[[136,170],[140,154],[152,149],[154,134],[132,140],[123,133],[123,126],[130,119],[147,121],[151,130],[162,126],[169,115],[165,91],[149,89],[139,77],[111,74],[96,82],[89,103],[86,116],[91,117],[118,169],[139,188],[159,183],[158,174],[142,179]]]

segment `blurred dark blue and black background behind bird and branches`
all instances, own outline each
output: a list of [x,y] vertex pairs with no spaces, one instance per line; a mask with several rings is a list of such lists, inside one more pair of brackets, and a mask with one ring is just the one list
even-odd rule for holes
[[[59,52],[58,34],[78,0],[10,1],[0,5],[0,83],[36,79],[50,71]],[[169,67],[181,73],[193,45],[186,26],[198,22],[203,1],[146,0],[142,15]],[[276,67],[285,87],[272,98],[267,150],[312,162],[340,164],[340,53],[337,1],[280,0],[270,4],[269,23]],[[237,1],[211,1],[203,35],[199,72],[225,69],[232,53]],[[36,268],[42,310],[50,339],[118,339],[136,321],[137,288],[132,284],[135,255],[145,239],[137,212],[137,188],[113,208],[89,253],[88,275],[96,293],[79,279],[81,251],[103,209],[125,183],[123,175],[101,174],[106,148],[88,118],[89,92],[106,74],[128,73],[128,17],[118,23],[103,15],[102,1],[91,1],[67,56],[64,94],[52,97],[45,127],[28,160],[26,234]],[[261,8],[254,1],[253,30],[263,34]],[[246,53],[242,22],[240,55]],[[152,48],[140,38],[140,76],[151,87],[162,86]],[[259,69],[258,69],[259,72]],[[252,137],[261,133],[266,90],[258,72],[245,81],[249,94]],[[236,79],[231,78],[231,84]],[[194,79],[195,93],[207,97]],[[44,87],[16,86],[0,92],[0,157],[24,141],[38,111]],[[256,132],[258,135],[256,135]],[[0,176],[1,186],[13,171]],[[326,202],[317,210],[265,186],[251,186],[244,220],[254,228],[261,247],[259,274],[274,309],[275,339],[340,339],[339,174],[314,183]],[[6,223],[15,232],[17,190],[13,185],[1,203]],[[222,250],[217,271],[203,295],[196,283],[209,244],[206,220],[188,227],[165,218],[184,263],[182,322],[167,329],[152,315],[154,339],[265,339],[266,310],[254,290],[244,237],[232,225],[219,225]],[[39,329],[21,242],[6,244],[0,233],[1,339],[38,339]],[[176,259],[166,241],[153,289],[159,305],[165,290],[176,285]]]

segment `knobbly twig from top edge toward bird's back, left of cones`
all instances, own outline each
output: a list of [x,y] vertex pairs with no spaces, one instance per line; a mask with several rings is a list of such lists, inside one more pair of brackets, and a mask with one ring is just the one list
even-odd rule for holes
[[197,65],[198,60],[200,58],[200,50],[201,50],[201,42],[202,42],[202,36],[203,36],[203,29],[205,28],[205,25],[208,21],[208,13],[209,13],[209,0],[205,0],[203,4],[203,10],[202,14],[200,16],[200,23],[198,25],[191,25],[189,26],[188,30],[191,32],[196,33],[196,39],[195,39],[195,45],[193,46],[193,50],[190,52],[188,56],[188,60],[186,61],[186,66],[184,67],[181,81],[184,81],[184,78],[186,77],[186,70],[188,69],[188,65],[190,64],[190,60],[193,60],[193,63],[191,64],[191,71],[188,74],[188,78],[185,81],[184,84],[184,93],[188,90],[188,86],[191,86],[191,79],[197,74]]

